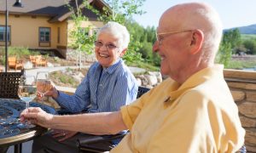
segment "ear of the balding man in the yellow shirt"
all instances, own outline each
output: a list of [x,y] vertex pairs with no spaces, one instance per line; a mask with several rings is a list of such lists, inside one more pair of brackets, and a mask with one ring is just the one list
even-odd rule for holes
[[201,50],[202,42],[204,40],[204,33],[201,30],[192,31],[192,37],[190,42],[190,53],[197,54]]

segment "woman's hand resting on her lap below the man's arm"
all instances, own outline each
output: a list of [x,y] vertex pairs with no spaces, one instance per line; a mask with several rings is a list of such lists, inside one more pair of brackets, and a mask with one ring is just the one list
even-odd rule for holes
[[59,141],[61,142],[73,137],[76,133],[78,132],[54,129],[51,134],[55,139],[61,138],[59,139]]

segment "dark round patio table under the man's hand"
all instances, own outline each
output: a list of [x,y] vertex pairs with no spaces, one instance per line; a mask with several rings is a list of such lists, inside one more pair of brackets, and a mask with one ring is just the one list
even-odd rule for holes
[[[41,107],[44,111],[55,114],[54,108],[31,102],[31,107]],[[0,147],[15,145],[15,152],[21,151],[21,143],[34,139],[48,131],[47,128],[35,126],[23,128],[20,124],[20,112],[25,109],[25,103],[20,99],[0,99]]]

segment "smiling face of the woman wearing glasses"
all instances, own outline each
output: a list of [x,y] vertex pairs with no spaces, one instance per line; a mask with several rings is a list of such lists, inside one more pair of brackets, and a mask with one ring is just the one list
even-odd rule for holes
[[109,67],[125,53],[126,49],[120,48],[119,39],[111,33],[102,31],[95,42],[96,59],[102,67]]

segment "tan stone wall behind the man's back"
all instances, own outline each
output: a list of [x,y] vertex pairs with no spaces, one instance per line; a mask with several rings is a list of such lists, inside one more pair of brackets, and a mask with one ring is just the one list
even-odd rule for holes
[[256,72],[225,70],[224,77],[239,109],[246,130],[247,151],[256,152]]

